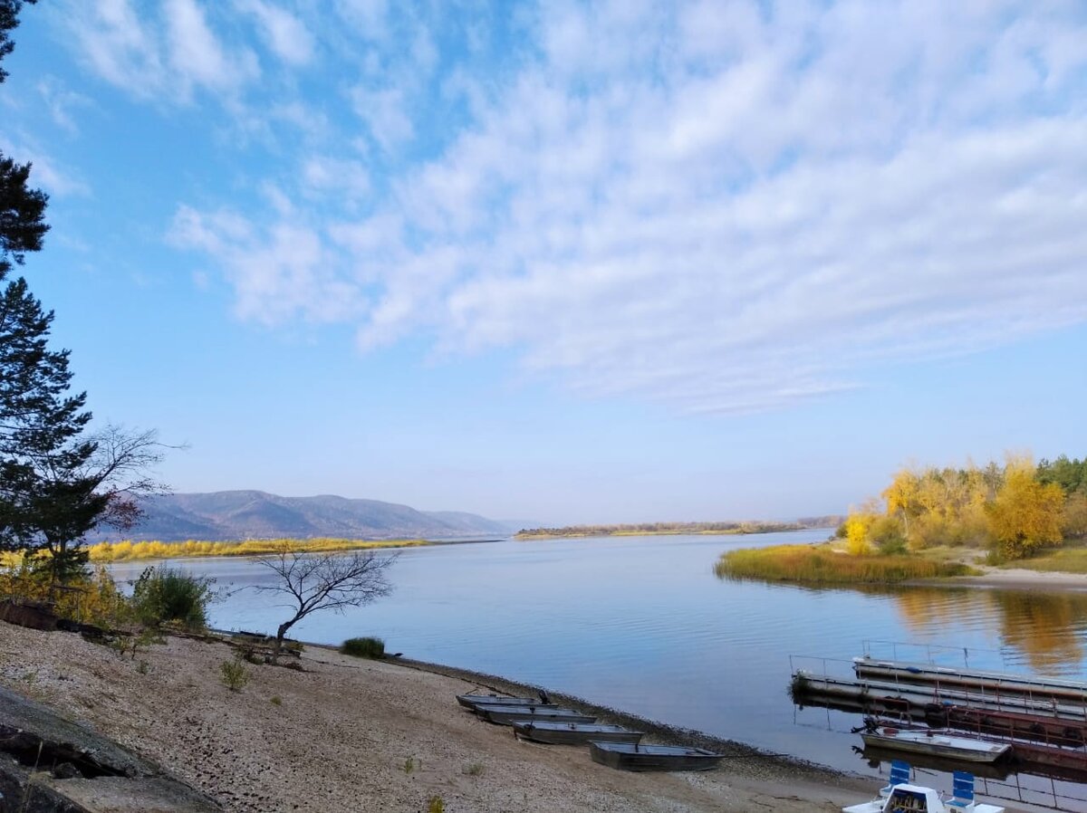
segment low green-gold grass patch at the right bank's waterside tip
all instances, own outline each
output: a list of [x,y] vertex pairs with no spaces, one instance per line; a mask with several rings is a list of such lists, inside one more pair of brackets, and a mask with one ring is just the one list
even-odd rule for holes
[[896,584],[922,578],[965,576],[959,562],[910,555],[851,555],[829,546],[778,545],[729,551],[714,566],[720,578],[798,584]]

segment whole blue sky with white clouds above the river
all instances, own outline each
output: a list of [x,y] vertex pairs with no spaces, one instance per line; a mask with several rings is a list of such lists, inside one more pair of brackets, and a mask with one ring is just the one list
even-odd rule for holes
[[0,150],[176,491],[845,512],[1087,454],[1080,0],[42,0]]

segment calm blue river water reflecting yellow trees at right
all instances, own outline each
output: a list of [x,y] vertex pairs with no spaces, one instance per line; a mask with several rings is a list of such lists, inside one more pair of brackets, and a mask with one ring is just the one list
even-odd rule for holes
[[[733,548],[821,540],[826,530],[502,541],[404,550],[393,595],[346,615],[315,614],[293,637],[326,643],[375,635],[390,652],[493,673],[673,725],[839,768],[871,771],[851,750],[852,715],[797,710],[790,666],[842,672],[866,647],[961,665],[1084,676],[1087,595],[985,589],[805,589],[723,581]],[[247,560],[180,566],[220,587],[267,581]],[[121,578],[142,564],[117,566]],[[214,626],[274,631],[284,610],[240,590]]]

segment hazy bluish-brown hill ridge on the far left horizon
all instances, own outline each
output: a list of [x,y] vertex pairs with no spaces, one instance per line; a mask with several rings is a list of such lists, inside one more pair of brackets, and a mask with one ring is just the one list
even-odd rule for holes
[[505,523],[459,511],[416,511],[408,505],[345,497],[278,497],[264,491],[174,493],[142,501],[145,517],[129,531],[100,533],[88,541],[158,539],[457,539],[504,537]]

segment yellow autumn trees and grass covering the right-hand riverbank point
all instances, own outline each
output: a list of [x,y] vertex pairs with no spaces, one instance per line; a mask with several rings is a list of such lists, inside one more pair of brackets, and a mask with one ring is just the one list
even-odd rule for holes
[[1087,459],[902,468],[821,546],[730,551],[722,578],[805,584],[970,575],[964,561],[1087,573]]

